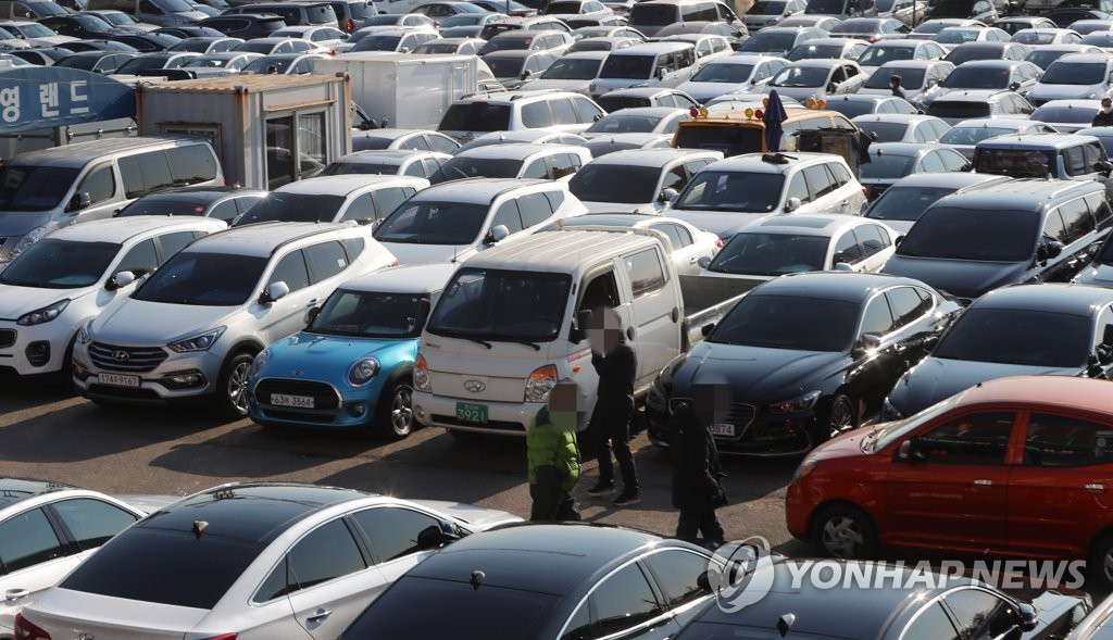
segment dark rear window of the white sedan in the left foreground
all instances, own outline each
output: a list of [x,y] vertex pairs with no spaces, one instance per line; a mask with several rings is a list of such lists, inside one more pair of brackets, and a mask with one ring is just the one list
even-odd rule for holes
[[[157,516],[156,516],[157,518]],[[263,550],[258,543],[150,526],[129,529],[82,562],[62,589],[211,609]],[[167,580],[173,575],[173,580]]]

